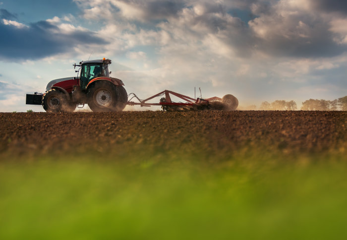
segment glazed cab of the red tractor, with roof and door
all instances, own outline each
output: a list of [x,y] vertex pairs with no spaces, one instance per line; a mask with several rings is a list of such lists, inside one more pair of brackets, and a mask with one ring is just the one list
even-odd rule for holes
[[81,66],[81,75],[80,75],[80,87],[81,90],[86,90],[88,83],[97,77],[110,77],[109,64],[111,60],[88,60],[81,61],[79,63]]

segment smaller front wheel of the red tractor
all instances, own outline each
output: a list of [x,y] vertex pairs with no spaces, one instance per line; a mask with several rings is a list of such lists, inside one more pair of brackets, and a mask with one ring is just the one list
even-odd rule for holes
[[76,108],[76,105],[73,107],[65,94],[57,89],[51,89],[43,95],[42,106],[49,113],[73,112]]

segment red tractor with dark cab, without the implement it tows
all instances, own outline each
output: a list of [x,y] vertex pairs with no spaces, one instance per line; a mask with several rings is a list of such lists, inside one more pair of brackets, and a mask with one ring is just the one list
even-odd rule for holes
[[27,94],[26,104],[41,105],[47,112],[73,112],[88,104],[94,112],[122,111],[128,95],[124,83],[110,77],[111,60],[88,60],[74,64],[80,67],[78,77],[59,78],[47,84],[44,94]]

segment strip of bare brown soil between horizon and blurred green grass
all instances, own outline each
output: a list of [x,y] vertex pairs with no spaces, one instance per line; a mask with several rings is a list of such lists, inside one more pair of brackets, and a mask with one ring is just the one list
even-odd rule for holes
[[347,149],[347,112],[0,113],[0,158],[140,152],[232,156]]

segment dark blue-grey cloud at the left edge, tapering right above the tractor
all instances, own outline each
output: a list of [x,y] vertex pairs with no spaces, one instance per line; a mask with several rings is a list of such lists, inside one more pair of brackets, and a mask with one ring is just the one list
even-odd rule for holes
[[0,59],[35,60],[59,53],[73,52],[76,45],[105,44],[91,31],[62,33],[48,21],[18,28],[0,23]]

